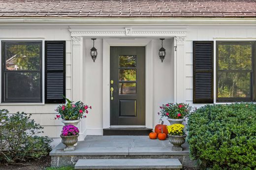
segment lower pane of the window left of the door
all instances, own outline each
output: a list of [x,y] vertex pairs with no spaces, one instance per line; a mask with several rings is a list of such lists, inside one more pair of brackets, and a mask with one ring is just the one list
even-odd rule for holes
[[4,74],[5,102],[31,101],[40,102],[41,85],[40,73],[15,73]]

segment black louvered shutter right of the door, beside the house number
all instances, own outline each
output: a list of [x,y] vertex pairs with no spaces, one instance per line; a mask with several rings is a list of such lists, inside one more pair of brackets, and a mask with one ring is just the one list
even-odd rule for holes
[[193,41],[193,103],[213,103],[213,41]]

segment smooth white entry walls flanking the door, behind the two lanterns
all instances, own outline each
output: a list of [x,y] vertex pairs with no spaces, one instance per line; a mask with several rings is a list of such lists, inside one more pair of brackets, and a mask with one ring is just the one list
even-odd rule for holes
[[[134,40],[136,41],[136,39]],[[174,39],[165,39],[163,47],[166,49],[166,57],[161,62],[158,52],[161,48],[160,39],[152,39],[153,47],[153,116],[154,125],[159,122],[159,106],[162,103],[174,102]],[[95,41],[98,52],[95,63],[90,56],[92,40],[84,39],[85,48],[85,92],[84,101],[92,105],[93,109],[87,117],[87,135],[102,135],[102,39]]]

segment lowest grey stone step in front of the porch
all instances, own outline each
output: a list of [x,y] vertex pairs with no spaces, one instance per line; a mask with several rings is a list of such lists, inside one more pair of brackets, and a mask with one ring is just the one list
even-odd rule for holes
[[76,170],[88,169],[182,169],[178,159],[79,159]]

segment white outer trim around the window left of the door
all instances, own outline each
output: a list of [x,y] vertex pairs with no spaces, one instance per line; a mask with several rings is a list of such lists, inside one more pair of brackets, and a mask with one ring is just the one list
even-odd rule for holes
[[[0,78],[0,106],[7,106],[7,105],[45,105],[44,99],[44,38],[0,38],[0,63],[2,63],[2,49],[1,44],[2,41],[42,41],[42,103],[3,103],[2,102],[2,79]],[[0,64],[0,77],[2,74],[2,64]]]

